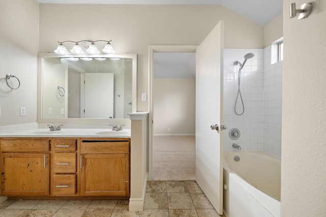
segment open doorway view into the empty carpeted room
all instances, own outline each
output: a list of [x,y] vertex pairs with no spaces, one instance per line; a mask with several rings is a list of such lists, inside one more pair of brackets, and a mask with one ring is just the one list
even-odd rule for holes
[[196,53],[154,52],[153,180],[195,180]]

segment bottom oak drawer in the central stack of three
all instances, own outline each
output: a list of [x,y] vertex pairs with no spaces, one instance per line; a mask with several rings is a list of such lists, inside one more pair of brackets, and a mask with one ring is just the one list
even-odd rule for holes
[[75,195],[76,175],[53,175],[53,195]]

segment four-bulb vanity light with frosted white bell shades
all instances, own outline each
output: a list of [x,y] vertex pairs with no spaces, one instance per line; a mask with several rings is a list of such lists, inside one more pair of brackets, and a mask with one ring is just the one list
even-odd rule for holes
[[[75,54],[75,55],[86,54],[84,52],[82,46],[80,46],[80,44],[82,44],[88,54],[91,54],[91,55],[100,54],[100,51],[97,49],[97,47],[96,47],[96,45],[94,43],[96,43],[96,42],[107,42],[107,44],[102,49],[102,52],[106,53],[106,54],[114,54],[114,53],[116,53],[116,51],[114,51],[112,45],[110,44],[111,41],[112,40],[110,40],[110,41],[105,41],[105,40],[87,41],[87,40],[85,40],[85,41],[79,41],[79,42],[74,42],[74,41],[58,42],[59,46],[55,50],[55,53],[57,53],[59,55],[68,55],[68,54],[71,54],[71,53]],[[70,50],[70,53],[68,52],[67,48],[63,45],[64,43],[67,43],[67,42],[75,43],[75,45]]]

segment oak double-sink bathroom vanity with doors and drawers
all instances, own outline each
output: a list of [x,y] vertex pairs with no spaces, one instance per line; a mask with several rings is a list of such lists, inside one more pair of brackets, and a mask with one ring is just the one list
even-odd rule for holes
[[130,131],[117,137],[42,132],[0,138],[1,196],[129,199]]

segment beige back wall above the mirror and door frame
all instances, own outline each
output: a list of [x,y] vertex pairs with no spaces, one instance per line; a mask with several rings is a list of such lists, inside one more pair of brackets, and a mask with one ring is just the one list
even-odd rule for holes
[[58,41],[112,39],[117,53],[138,53],[137,107],[148,111],[141,101],[148,94],[148,46],[199,45],[220,20],[225,47],[263,48],[262,26],[219,5],[41,4],[40,52],[53,52]]

